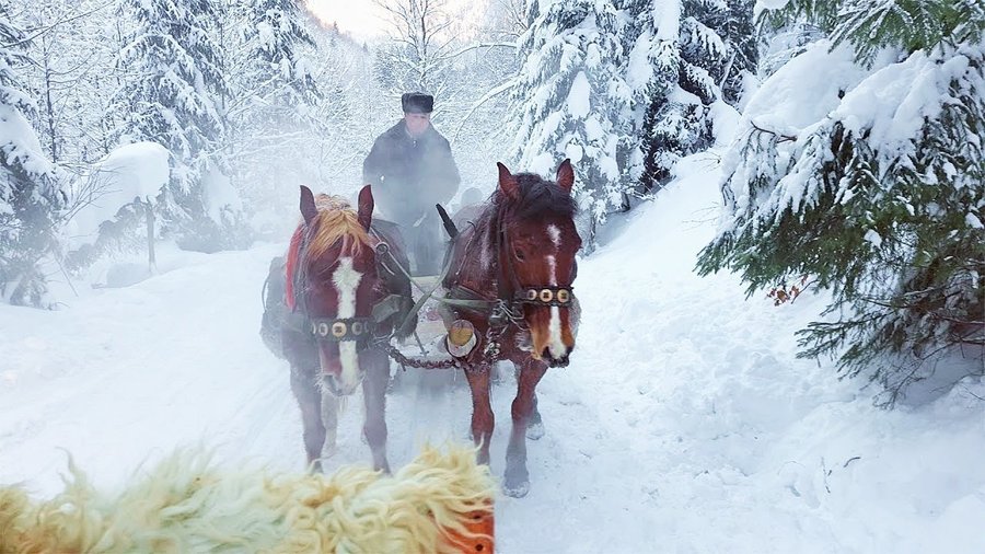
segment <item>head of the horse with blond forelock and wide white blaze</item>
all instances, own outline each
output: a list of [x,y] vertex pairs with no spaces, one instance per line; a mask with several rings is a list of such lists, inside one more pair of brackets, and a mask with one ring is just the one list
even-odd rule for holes
[[369,236],[373,195],[359,193],[358,211],[339,197],[301,187],[304,231],[298,259],[297,298],[317,342],[322,382],[336,395],[362,381],[364,350],[373,338],[376,261]]

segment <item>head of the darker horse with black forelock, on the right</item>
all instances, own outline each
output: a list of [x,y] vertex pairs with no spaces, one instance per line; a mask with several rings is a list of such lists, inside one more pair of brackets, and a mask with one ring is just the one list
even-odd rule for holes
[[[571,197],[575,172],[565,160],[557,181],[531,173],[513,175],[499,166],[500,278],[511,282],[514,301],[523,307],[530,327],[531,355],[552,367],[566,366],[575,348],[578,308],[571,292],[581,238],[575,228]],[[512,275],[509,275],[512,274]]]

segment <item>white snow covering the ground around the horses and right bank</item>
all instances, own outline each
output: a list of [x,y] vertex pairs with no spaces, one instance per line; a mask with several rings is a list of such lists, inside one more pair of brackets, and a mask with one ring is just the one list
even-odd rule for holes
[[[774,307],[746,300],[734,275],[696,277],[715,233],[717,160],[684,159],[676,181],[581,261],[578,345],[538,388],[546,435],[528,445],[530,495],[497,500],[497,551],[985,552],[985,381],[874,408],[874,392],[839,381],[831,360],[795,356],[793,331],[826,299]],[[0,484],[49,496],[70,452],[112,487],[196,443],[301,470],[288,368],[257,334],[260,285],[282,250],[162,249],[161,273],[132,287],[79,287],[59,312],[0,305]],[[513,394],[505,373],[497,475]],[[425,441],[467,440],[463,381],[403,376],[387,401],[395,469]],[[331,468],[370,461],[360,404],[340,417]]]

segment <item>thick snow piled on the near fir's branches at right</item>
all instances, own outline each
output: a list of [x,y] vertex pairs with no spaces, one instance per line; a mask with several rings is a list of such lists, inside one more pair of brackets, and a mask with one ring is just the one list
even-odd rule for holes
[[[721,232],[739,224],[770,226],[787,208],[797,212],[813,205],[822,189],[819,176],[834,157],[833,136],[841,128],[853,139],[865,138],[880,171],[912,163],[927,124],[955,102],[951,86],[967,94],[985,85],[970,61],[981,58],[981,48],[941,47],[906,56],[884,49],[867,67],[856,62],[847,44],[832,48],[830,41],[819,41],[807,47],[770,76],[745,106],[737,126],[740,140],[725,153],[725,186],[734,206],[722,218]],[[969,141],[975,140],[970,134]],[[928,171],[925,181],[935,180]],[[855,195],[854,183],[842,180],[838,201]],[[914,203],[900,201],[913,211]]]

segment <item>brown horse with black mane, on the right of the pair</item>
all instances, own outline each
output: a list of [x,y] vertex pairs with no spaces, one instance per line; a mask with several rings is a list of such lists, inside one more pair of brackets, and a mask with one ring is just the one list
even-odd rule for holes
[[467,320],[478,338],[462,365],[472,389],[472,436],[482,463],[489,462],[494,426],[490,370],[499,359],[517,368],[503,489],[519,497],[530,489],[526,438],[543,435],[537,382],[548,367],[567,366],[575,347],[578,303],[571,282],[581,239],[573,222],[569,160],[557,169],[556,183],[498,166],[499,187],[490,201],[471,221],[462,213],[456,218],[463,231],[450,251],[443,285],[448,299],[460,302],[444,308],[443,315],[447,324]]

